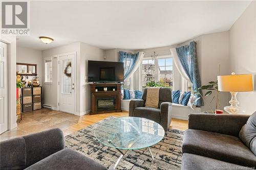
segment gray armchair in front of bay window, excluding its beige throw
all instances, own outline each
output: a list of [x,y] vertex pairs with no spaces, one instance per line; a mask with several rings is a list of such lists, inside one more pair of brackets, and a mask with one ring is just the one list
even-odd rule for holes
[[129,105],[129,116],[144,117],[159,123],[168,130],[172,121],[172,89],[160,88],[158,108],[145,107],[147,88],[144,89],[141,100],[131,100]]

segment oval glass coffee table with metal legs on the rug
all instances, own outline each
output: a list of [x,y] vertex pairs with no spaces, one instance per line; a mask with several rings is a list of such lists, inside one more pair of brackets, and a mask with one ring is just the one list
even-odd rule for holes
[[95,137],[101,143],[121,153],[114,168],[129,150],[147,148],[154,162],[150,147],[161,141],[164,134],[161,125],[141,117],[119,117],[105,120],[94,131]]

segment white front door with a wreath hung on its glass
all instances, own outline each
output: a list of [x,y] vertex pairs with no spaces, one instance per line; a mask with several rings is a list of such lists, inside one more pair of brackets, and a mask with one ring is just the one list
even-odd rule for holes
[[75,54],[58,57],[59,110],[75,114]]

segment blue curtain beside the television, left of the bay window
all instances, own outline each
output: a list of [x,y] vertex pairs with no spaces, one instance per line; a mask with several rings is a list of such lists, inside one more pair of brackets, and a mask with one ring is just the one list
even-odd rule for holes
[[138,59],[139,53],[132,54],[126,52],[119,52],[119,61],[123,62],[124,79],[126,79],[134,68]]

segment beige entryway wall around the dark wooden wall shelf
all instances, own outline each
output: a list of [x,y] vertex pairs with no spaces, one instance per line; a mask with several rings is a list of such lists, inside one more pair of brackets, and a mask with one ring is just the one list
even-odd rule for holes
[[[42,51],[34,50],[31,48],[25,48],[17,46],[16,48],[16,60],[17,63],[27,63],[27,64],[36,64],[37,65],[37,76],[39,77],[40,84],[42,84]],[[29,76],[27,79],[24,76],[25,80],[32,81],[34,76]]]

